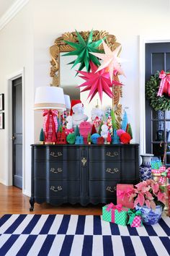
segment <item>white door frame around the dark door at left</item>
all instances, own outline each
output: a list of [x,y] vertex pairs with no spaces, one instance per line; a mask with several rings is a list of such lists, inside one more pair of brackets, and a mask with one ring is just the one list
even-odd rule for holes
[[24,68],[6,77],[6,186],[12,186],[12,81],[22,77],[22,192],[25,187],[25,89]]

